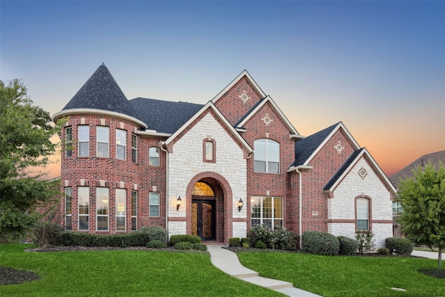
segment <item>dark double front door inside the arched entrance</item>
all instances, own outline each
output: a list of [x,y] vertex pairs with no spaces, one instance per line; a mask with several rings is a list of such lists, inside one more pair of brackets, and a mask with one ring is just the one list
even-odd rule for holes
[[215,240],[215,200],[192,200],[192,234]]

